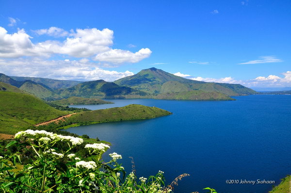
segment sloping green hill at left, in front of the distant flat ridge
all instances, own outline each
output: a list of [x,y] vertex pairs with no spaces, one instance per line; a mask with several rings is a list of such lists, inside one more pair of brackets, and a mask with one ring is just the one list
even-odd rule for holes
[[59,96],[58,94],[54,93],[49,87],[42,83],[36,83],[31,80],[25,80],[19,89],[24,90],[28,93],[31,93],[34,96],[37,96],[42,99],[46,100],[56,100],[56,99],[62,99],[62,96]]

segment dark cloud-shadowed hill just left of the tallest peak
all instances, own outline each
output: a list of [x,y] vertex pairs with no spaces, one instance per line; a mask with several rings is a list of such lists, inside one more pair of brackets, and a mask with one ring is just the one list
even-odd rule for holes
[[87,98],[126,98],[127,96],[145,95],[144,92],[128,86],[119,86],[113,82],[107,82],[104,80],[83,82],[70,88],[59,89],[56,93],[65,98],[70,96]]

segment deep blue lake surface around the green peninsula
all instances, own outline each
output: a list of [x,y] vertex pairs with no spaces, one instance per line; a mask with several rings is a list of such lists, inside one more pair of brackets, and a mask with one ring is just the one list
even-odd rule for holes
[[[175,193],[267,193],[291,174],[291,96],[237,96],[236,101],[110,100],[115,104],[72,105],[92,110],[128,104],[156,106],[172,115],[149,120],[67,129],[112,143],[128,172],[129,156],[141,177],[164,171]],[[107,157],[105,157],[107,159]],[[275,184],[227,184],[226,180],[275,180]]]

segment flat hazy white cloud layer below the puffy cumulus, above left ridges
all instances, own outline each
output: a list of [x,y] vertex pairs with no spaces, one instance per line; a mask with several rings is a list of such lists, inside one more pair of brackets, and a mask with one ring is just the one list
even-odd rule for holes
[[5,59],[0,60],[1,73],[10,76],[42,77],[63,80],[114,81],[133,75],[130,71],[105,70],[86,60]]

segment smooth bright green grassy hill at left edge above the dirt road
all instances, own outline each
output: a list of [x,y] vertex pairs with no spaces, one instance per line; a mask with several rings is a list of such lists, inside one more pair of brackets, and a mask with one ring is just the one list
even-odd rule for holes
[[[0,91],[0,112],[31,125],[68,114],[50,107],[35,96],[2,91]],[[2,122],[0,128],[3,129]]]

